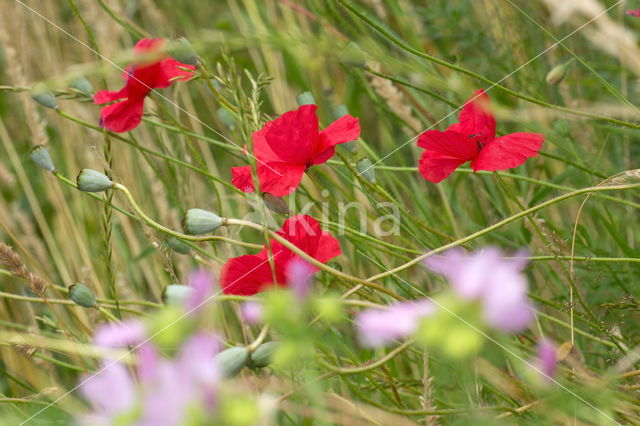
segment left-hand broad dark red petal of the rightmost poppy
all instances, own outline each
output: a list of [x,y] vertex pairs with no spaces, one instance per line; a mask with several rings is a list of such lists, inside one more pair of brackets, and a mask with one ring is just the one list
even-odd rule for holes
[[418,146],[425,148],[418,170],[433,183],[442,181],[478,155],[478,145],[472,138],[450,130],[427,130],[420,135]]

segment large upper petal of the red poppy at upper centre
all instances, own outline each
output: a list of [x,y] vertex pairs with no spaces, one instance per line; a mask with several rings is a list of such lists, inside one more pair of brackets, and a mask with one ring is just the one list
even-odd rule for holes
[[[316,152],[318,137],[318,116],[315,105],[302,105],[294,111],[282,114],[268,122],[256,132],[258,138],[264,138],[266,145],[283,163],[308,165]],[[264,147],[256,143],[254,154],[263,161]]]

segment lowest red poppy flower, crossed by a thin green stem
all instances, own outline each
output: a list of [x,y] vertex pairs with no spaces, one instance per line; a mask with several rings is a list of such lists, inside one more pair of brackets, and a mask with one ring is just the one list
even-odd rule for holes
[[[340,243],[328,232],[322,231],[317,220],[307,215],[293,216],[287,219],[277,232],[293,245],[314,259],[326,263],[342,254]],[[287,266],[294,259],[301,259],[276,240],[270,241],[274,270],[271,270],[267,247],[258,254],[245,255],[229,259],[222,267],[220,285],[225,294],[250,296],[274,285],[286,286],[289,283]],[[311,272],[318,271],[309,265]]]

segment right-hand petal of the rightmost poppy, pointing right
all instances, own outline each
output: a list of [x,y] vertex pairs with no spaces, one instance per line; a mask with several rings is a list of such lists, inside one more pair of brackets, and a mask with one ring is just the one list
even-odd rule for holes
[[518,167],[529,157],[538,155],[544,136],[539,133],[512,133],[486,144],[471,163],[473,171],[506,170]]

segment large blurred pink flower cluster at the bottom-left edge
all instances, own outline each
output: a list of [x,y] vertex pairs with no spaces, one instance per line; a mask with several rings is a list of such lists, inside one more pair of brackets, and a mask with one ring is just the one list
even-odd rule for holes
[[80,422],[112,425],[121,416],[131,416],[125,424],[179,426],[188,422],[195,407],[213,412],[220,380],[214,361],[218,349],[217,338],[204,332],[186,340],[173,360],[145,343],[138,351],[138,380],[119,362],[103,363],[100,371],[80,382],[93,408],[79,417]]

